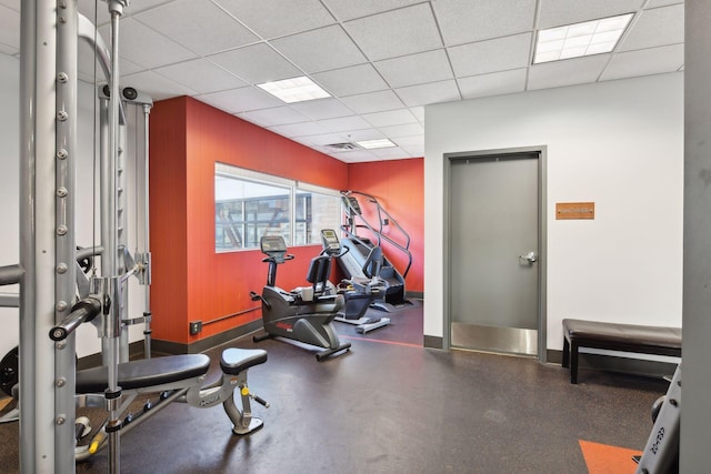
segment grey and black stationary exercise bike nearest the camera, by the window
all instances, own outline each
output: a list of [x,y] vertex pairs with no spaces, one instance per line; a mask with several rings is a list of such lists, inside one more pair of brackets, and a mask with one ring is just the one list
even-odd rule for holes
[[252,301],[262,302],[262,323],[267,334],[256,335],[254,342],[269,337],[287,337],[324,347],[316,354],[317,361],[348,351],[350,342],[341,343],[331,323],[344,305],[343,296],[336,294],[329,282],[331,258],[320,254],[311,260],[307,281],[311,286],[284,291],[277,286],[277,265],[292,260],[281,235],[263,235],[260,248],[269,263],[267,284],[259,295],[250,292]]

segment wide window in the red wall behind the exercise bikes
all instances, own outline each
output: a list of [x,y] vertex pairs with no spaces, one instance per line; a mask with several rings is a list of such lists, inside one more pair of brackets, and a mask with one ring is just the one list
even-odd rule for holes
[[291,245],[321,243],[322,229],[339,229],[340,194],[327,188],[216,163],[214,250],[258,249],[262,235]]

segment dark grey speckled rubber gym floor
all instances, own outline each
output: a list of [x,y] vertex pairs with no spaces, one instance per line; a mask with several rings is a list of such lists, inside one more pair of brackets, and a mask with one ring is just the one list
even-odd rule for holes
[[[122,473],[587,473],[579,440],[641,450],[661,380],[581,371],[505,355],[422,349],[420,307],[357,334],[350,352],[263,347],[250,389],[264,426],[237,436],[221,407],[172,404],[121,437]],[[222,347],[210,351],[216,361]],[[212,369],[214,373],[216,367]],[[217,376],[217,375],[216,375]],[[18,472],[17,425],[0,426],[0,472]],[[107,472],[106,452],[77,466]]]

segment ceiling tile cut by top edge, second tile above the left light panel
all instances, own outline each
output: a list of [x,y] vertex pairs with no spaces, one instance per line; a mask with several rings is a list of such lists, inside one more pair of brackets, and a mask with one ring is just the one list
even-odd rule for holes
[[319,0],[214,0],[263,39],[312,30],[334,22]]

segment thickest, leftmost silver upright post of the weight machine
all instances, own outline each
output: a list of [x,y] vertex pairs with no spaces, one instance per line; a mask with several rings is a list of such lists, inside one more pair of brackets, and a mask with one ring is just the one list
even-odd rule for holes
[[54,470],[56,3],[23,2],[20,40],[20,471]]

